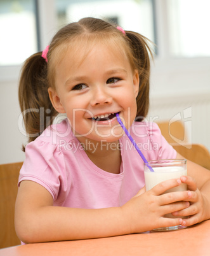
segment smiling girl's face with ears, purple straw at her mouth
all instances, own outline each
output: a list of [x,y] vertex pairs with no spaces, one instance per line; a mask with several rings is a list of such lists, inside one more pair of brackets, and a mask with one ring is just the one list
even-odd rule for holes
[[117,141],[136,117],[138,72],[116,46],[93,45],[89,51],[68,51],[58,64],[56,90],[49,88],[55,109],[67,113],[79,141]]

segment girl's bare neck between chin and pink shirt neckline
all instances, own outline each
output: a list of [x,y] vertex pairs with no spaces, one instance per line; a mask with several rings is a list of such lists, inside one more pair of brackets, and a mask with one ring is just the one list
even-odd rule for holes
[[89,159],[103,171],[108,173],[120,173],[121,149],[119,141],[112,143],[105,141],[86,141],[82,142],[84,150]]

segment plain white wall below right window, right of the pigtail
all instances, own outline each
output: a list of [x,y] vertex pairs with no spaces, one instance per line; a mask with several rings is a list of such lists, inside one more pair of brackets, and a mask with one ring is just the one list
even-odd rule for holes
[[155,122],[180,118],[188,142],[210,150],[210,59],[176,61],[178,66],[157,61],[152,69],[148,116]]

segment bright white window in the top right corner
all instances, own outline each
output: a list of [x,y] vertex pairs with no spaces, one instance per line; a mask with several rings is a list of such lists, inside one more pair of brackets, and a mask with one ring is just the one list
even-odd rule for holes
[[210,1],[169,0],[169,53],[175,57],[210,56]]

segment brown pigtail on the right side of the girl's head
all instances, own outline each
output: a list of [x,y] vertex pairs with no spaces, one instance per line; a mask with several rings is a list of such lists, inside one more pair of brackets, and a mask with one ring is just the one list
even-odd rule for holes
[[126,36],[129,38],[129,45],[131,46],[133,55],[135,56],[136,67],[138,68],[138,74],[140,77],[139,92],[136,97],[136,121],[141,121],[147,116],[149,107],[150,55],[152,56],[152,51],[148,46],[148,39],[141,34],[133,31],[126,31]]

